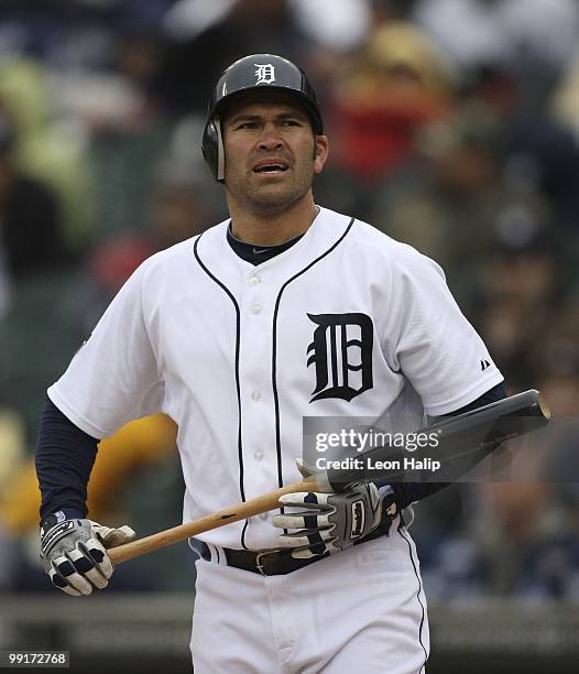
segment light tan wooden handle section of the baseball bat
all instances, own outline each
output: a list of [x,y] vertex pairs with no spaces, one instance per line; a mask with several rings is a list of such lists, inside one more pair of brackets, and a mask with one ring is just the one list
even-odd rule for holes
[[107,554],[113,564],[121,564],[121,562],[128,562],[129,559],[153,552],[160,547],[165,547],[165,545],[179,543],[204,531],[225,526],[231,522],[239,522],[239,520],[247,520],[262,512],[274,510],[280,506],[280,497],[284,493],[295,493],[296,491],[320,491],[320,489],[316,478],[309,477],[306,480],[292,482],[281,489],[274,489],[267,493],[262,493],[254,499],[238,503],[231,508],[225,508],[219,512],[214,512],[209,515],[205,515],[205,518],[194,520],[193,522],[186,522],[185,524],[173,526],[173,529],[160,531],[150,536],[124,543],[118,547],[111,547],[107,551]]

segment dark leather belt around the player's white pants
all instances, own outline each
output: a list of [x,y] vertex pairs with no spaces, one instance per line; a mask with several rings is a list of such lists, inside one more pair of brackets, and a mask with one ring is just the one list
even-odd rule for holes
[[[387,534],[387,529],[378,526],[374,531],[370,532],[361,541],[357,541],[354,545],[360,545],[367,541],[372,541],[380,536]],[[316,555],[307,559],[295,559],[292,557],[291,551],[287,550],[263,550],[254,552],[252,550],[231,550],[229,547],[219,547],[220,552],[225,553],[227,566],[233,566],[234,568],[241,568],[253,574],[261,574],[262,576],[285,576],[292,572],[309,566],[315,562],[329,557],[329,553],[324,555]],[[206,543],[201,545],[201,558],[210,562],[211,551]]]

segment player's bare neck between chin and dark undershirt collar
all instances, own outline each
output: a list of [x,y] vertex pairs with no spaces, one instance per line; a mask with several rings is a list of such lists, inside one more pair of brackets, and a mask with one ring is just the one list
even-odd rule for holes
[[229,199],[231,233],[240,241],[255,246],[278,246],[303,235],[317,215],[314,198],[301,199],[280,213],[251,211]]

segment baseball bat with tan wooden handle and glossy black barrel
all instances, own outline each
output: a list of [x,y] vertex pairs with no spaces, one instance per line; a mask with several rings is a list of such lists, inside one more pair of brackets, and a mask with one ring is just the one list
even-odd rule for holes
[[[472,410],[471,412],[465,412],[457,416],[441,420],[427,426],[425,431],[433,432],[434,430],[438,434],[437,456],[440,455],[441,460],[455,460],[462,457],[483,458],[505,439],[537,431],[549,418],[550,410],[543,394],[536,390],[529,390]],[[380,446],[363,453],[365,458],[372,457],[375,460],[390,460],[393,456],[397,455],[400,455],[400,450],[396,449],[393,453],[393,448],[390,446]],[[368,461],[364,461],[364,464],[368,464]],[[307,476],[302,481],[285,485],[280,489],[274,489],[193,522],[186,522],[185,524],[131,541],[118,547],[109,548],[107,554],[113,564],[120,564],[160,547],[185,541],[190,536],[219,526],[225,526],[231,522],[239,522],[240,520],[275,510],[280,507],[280,497],[285,493],[295,493],[297,491],[343,491],[351,482],[374,480],[376,477],[389,479],[392,482],[402,480],[424,481],[420,471],[411,471],[411,479],[407,478],[404,471],[390,471],[386,474],[382,471],[380,476],[365,469],[317,471],[315,475]]]

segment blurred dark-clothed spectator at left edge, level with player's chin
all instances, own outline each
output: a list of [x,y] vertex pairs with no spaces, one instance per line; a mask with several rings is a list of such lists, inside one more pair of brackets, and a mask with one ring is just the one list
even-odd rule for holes
[[66,260],[58,202],[52,189],[17,166],[15,137],[0,110],[0,249],[8,274],[20,278]]

